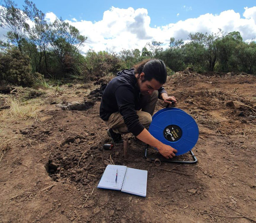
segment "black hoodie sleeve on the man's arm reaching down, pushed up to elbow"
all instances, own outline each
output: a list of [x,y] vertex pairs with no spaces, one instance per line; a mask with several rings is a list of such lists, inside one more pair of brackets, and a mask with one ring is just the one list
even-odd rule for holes
[[128,131],[137,136],[142,132],[144,126],[139,122],[139,116],[135,110],[133,88],[130,85],[121,86],[115,90],[118,110],[124,118]]

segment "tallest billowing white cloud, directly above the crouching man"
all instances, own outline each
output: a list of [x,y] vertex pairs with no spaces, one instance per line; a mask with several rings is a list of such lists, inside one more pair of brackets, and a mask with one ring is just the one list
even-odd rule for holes
[[[68,20],[66,20],[68,21]],[[82,35],[87,36],[86,47],[83,51],[92,48],[96,51],[106,47],[122,49],[142,48],[153,38],[150,27],[150,17],[147,9],[119,9],[112,7],[103,14],[103,19],[91,21],[68,21],[75,26]]]

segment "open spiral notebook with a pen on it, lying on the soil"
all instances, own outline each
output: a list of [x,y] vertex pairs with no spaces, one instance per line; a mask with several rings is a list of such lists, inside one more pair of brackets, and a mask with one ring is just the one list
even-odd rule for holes
[[[117,181],[116,180],[116,170]],[[98,188],[122,191],[139,196],[146,196],[148,171],[120,165],[107,165]]]

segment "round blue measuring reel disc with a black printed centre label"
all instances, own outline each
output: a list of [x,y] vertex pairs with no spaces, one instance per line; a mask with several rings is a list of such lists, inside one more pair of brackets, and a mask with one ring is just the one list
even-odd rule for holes
[[164,108],[153,115],[149,132],[160,142],[177,149],[176,155],[190,151],[199,137],[195,120],[179,108]]

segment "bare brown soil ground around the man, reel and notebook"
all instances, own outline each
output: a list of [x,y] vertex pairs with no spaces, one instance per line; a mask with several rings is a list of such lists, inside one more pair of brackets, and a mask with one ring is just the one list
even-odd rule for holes
[[[126,160],[122,145],[102,148],[110,142],[99,117],[106,83],[97,84],[90,96],[87,84],[74,86],[75,96],[67,87],[65,95],[44,97],[37,119],[8,124],[18,142],[0,157],[0,223],[256,221],[255,76],[179,72],[168,78],[165,89],[196,120],[200,136],[197,164],[162,163],[163,169],[144,158],[145,144],[131,134],[124,136]],[[161,108],[158,101],[156,111]],[[147,197],[98,189],[111,162],[147,170]]]

